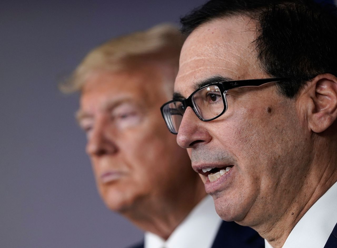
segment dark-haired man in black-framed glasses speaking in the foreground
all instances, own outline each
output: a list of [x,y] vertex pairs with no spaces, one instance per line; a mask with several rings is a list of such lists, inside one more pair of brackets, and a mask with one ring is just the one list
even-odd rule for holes
[[266,247],[337,247],[337,16],[310,1],[212,0],[161,107],[220,217]]

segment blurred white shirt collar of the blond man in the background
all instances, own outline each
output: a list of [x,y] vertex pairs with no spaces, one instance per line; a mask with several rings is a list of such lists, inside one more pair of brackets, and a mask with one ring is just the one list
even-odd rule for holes
[[165,241],[145,233],[145,248],[211,248],[222,220],[217,215],[213,198],[206,196]]

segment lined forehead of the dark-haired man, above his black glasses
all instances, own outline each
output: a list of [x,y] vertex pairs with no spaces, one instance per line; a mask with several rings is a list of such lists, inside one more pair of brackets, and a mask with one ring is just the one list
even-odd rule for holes
[[175,92],[187,97],[193,84],[215,75],[263,78],[251,44],[254,39],[255,23],[245,16],[215,19],[195,29],[181,51]]

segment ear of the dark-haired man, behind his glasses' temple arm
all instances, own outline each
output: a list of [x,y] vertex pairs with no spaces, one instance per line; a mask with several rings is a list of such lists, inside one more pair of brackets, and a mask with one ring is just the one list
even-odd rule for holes
[[320,74],[308,82],[307,120],[315,133],[327,130],[337,118],[337,77]]

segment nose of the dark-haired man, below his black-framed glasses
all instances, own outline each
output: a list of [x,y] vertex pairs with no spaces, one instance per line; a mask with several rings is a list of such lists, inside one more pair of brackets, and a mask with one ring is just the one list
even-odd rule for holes
[[192,148],[200,143],[208,143],[211,137],[202,126],[204,121],[200,120],[191,107],[187,107],[181,120],[177,134],[177,143],[183,148]]

